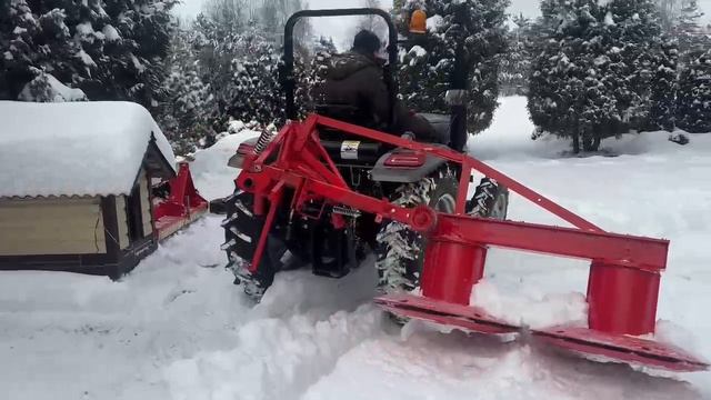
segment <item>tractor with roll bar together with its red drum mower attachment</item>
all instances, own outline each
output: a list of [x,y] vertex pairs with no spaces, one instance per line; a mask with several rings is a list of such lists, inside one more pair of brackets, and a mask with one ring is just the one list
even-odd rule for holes
[[[467,69],[460,58],[448,93],[451,116],[423,116],[437,127],[435,142],[329,114],[329,104],[297,121],[296,22],[361,14],[381,16],[390,28],[384,80],[394,100],[398,34],[388,13],[308,10],[287,22],[282,73],[291,121],[277,136],[266,132],[242,143],[230,160],[242,171],[234,194],[224,199],[223,250],[246,292],[259,301],[277,272],[306,266],[341,278],[374,252],[382,292],[374,301],[392,314],[469,332],[515,333],[525,328],[470,303],[488,248],[588,259],[588,327],[549,327],[529,336],[597,358],[675,371],[707,369],[681,349],[641,338],[654,332],[668,241],[605,232],[462,152]],[[415,17],[424,21],[421,12]],[[487,178],[470,197],[473,170]],[[507,221],[509,190],[575,228]]]

